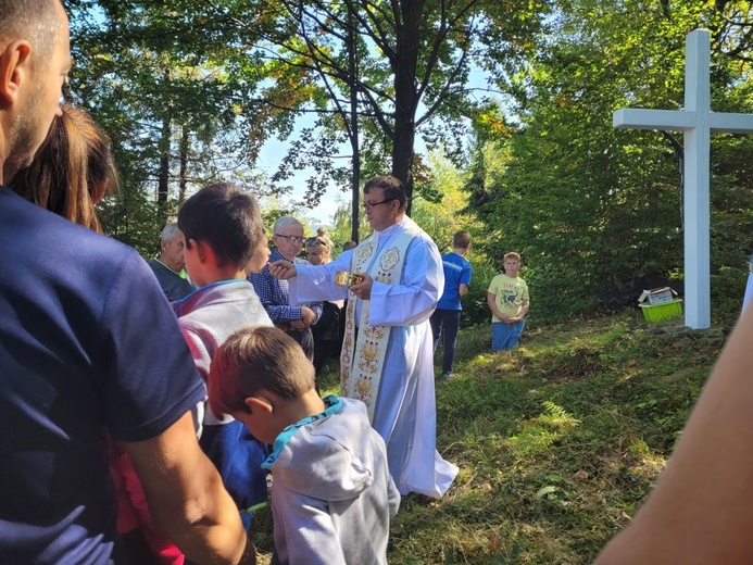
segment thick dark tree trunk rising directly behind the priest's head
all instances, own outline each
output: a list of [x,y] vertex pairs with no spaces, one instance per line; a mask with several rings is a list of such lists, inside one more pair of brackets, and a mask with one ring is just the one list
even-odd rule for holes
[[[421,43],[421,18],[424,0],[392,0],[402,17],[398,26],[397,60],[394,61],[394,139],[392,142],[392,175],[405,185],[407,214],[413,198],[413,149],[416,137],[416,66]],[[397,13],[397,11],[396,11]]]

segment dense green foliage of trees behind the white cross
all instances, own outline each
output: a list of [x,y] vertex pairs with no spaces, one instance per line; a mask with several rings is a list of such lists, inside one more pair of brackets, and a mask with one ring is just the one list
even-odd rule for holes
[[[592,312],[600,290],[631,288],[647,274],[681,273],[673,148],[657,133],[616,131],[611,116],[624,106],[680,108],[685,35],[704,26],[719,37],[732,34],[716,12],[732,4],[742,7],[563,2],[552,40],[529,68],[511,75],[520,128],[481,138],[467,190],[487,226],[487,254],[524,255],[532,313],[561,319]],[[728,37],[733,42],[735,35]],[[750,108],[748,63],[715,52],[712,64],[715,108]],[[749,143],[740,136],[713,138],[712,285],[723,312],[738,307],[729,297],[739,304],[751,250],[753,202],[742,164]]]

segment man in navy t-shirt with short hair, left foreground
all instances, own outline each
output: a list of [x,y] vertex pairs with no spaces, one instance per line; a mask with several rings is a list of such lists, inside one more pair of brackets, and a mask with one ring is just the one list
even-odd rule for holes
[[70,67],[59,0],[0,0],[0,563],[125,562],[110,439],[188,558],[254,563],[196,439],[203,385],[145,262],[1,186],[60,115]]

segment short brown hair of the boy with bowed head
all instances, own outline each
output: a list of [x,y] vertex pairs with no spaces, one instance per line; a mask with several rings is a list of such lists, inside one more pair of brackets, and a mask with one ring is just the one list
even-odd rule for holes
[[246,399],[267,390],[294,400],[314,388],[314,365],[281,329],[247,326],[233,334],[212,360],[209,401],[215,414],[246,412]]

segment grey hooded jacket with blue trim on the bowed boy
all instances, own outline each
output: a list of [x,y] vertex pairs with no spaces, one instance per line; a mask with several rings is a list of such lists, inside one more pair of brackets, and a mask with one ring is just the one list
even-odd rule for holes
[[272,469],[273,564],[387,563],[400,493],[385,441],[357,400],[328,395],[326,410],[287,427],[262,465]]

